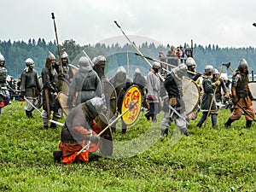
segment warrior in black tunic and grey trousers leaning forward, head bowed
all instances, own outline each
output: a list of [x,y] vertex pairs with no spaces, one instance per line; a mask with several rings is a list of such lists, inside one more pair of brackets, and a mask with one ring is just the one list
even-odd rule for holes
[[[178,67],[173,68],[171,73],[167,75],[164,83],[166,91],[168,93],[167,99],[165,99],[164,106],[171,105],[172,108],[163,108],[165,111],[164,119],[162,120],[161,135],[168,135],[168,127],[171,126],[173,120],[175,120],[177,128],[185,136],[189,136],[187,131],[187,120],[185,112],[185,103],[183,101],[183,84],[182,79],[184,73],[187,73],[188,67],[185,64],[180,64]],[[183,118],[182,118],[183,117]]]

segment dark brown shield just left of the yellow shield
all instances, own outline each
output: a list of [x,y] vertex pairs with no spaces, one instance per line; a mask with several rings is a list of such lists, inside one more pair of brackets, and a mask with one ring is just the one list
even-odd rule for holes
[[108,80],[103,79],[102,84],[107,108],[110,109],[108,110],[108,118],[110,119],[117,110],[117,94],[113,84],[111,84]]

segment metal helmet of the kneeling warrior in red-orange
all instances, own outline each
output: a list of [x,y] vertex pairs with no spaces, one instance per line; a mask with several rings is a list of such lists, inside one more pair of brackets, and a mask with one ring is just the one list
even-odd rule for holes
[[93,97],[92,99],[85,102],[86,107],[89,109],[89,112],[92,115],[92,118],[95,119],[99,113],[102,112],[104,105],[102,97]]

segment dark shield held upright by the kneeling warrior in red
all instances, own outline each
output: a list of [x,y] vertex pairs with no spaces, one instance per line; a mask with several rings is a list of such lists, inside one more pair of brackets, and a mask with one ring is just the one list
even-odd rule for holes
[[[99,114],[96,117],[96,124],[103,131],[108,126],[108,119],[104,114]],[[101,134],[101,145],[100,150],[103,156],[111,156],[113,154],[113,140],[112,140],[112,132],[110,128],[103,131]]]

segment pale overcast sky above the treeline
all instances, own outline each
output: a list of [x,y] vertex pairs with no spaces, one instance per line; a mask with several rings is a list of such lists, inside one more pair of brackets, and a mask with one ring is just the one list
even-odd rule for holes
[[[0,40],[44,38],[95,44],[126,35],[160,44],[218,44],[256,47],[256,1],[253,0],[0,0]],[[125,39],[125,37],[124,37]],[[131,39],[133,40],[133,39]]]

